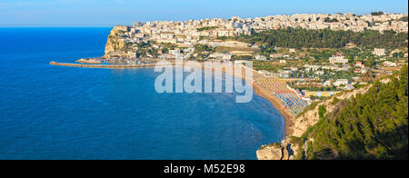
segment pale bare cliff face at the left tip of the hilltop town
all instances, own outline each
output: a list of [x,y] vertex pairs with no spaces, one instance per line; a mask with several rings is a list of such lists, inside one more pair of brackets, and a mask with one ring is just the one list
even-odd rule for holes
[[121,51],[125,47],[125,41],[122,35],[128,31],[127,26],[115,26],[111,30],[111,34],[108,36],[108,41],[105,45],[105,55],[112,52]]

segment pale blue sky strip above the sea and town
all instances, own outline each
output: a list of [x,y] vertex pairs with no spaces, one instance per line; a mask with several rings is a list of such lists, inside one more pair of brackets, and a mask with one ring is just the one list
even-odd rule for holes
[[408,14],[407,0],[0,0],[0,26],[113,26],[133,22],[294,14]]

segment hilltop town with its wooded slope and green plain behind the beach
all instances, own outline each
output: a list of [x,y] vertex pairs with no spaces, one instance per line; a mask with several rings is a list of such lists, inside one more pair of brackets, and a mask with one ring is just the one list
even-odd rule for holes
[[104,59],[146,64],[181,54],[200,62],[252,61],[266,79],[281,79],[258,84],[284,83],[294,91],[277,96],[296,115],[314,101],[353,90],[407,64],[407,17],[374,12],[136,22],[115,26]]

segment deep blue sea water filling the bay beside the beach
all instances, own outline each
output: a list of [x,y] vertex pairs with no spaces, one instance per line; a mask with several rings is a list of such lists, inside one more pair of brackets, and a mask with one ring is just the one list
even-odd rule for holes
[[157,94],[153,69],[48,64],[103,55],[109,32],[0,28],[0,159],[246,160],[283,138],[257,95]]

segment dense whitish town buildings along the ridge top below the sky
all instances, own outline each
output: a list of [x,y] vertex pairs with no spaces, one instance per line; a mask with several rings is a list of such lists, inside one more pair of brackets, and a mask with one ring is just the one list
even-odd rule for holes
[[[374,30],[384,32],[393,30],[396,33],[407,33],[408,22],[407,15],[384,14],[382,12],[373,13],[373,15],[354,15],[354,14],[335,14],[335,15],[270,15],[265,17],[246,18],[234,16],[231,19],[203,19],[189,20],[186,22],[173,21],[155,21],[140,23],[136,22],[133,26],[115,26],[115,34],[119,36],[123,45],[117,47],[131,47],[132,50],[124,52],[137,52],[140,44],[155,42],[152,45],[157,53],[141,54],[146,57],[168,57],[169,51],[164,45],[158,44],[175,44],[178,47],[187,48],[184,54],[189,58],[189,52],[195,52],[195,44],[208,44],[211,46],[226,47],[248,47],[248,44],[231,41],[220,41],[224,37],[238,35],[253,35],[268,30],[285,29],[285,28],[304,28],[304,29],[331,29],[344,30],[353,32],[364,32],[365,30]],[[251,46],[257,48],[258,46]],[[114,53],[113,53],[114,52]],[[116,52],[116,53],[115,53]],[[167,53],[166,53],[167,52]],[[112,56],[125,56],[115,48],[108,47],[105,54]],[[234,53],[233,53],[234,54]],[[239,53],[240,54],[240,53]],[[245,53],[244,53],[245,54]],[[135,57],[133,54],[127,54]],[[136,54],[137,56],[139,54]],[[228,59],[227,55],[214,55]]]

